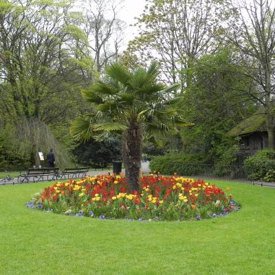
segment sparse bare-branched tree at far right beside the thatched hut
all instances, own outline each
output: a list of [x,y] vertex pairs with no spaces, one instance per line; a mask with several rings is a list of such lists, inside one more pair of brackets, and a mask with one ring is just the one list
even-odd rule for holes
[[245,76],[254,87],[242,94],[257,100],[265,109],[265,123],[270,148],[275,148],[274,100],[275,6],[269,0],[232,1],[234,17],[229,21],[228,40],[240,54],[241,65],[247,67]]

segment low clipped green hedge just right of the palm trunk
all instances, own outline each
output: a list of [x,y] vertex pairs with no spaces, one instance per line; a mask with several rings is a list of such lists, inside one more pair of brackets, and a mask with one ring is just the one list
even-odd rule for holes
[[191,175],[199,173],[199,170],[203,169],[203,166],[194,166],[193,164],[203,164],[203,157],[199,154],[168,153],[153,157],[149,168],[164,175],[173,175],[173,173]]

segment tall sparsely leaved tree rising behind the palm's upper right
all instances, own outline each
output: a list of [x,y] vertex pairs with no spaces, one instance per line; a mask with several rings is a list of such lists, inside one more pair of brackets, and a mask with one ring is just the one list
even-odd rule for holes
[[221,4],[215,0],[149,0],[137,19],[140,35],[129,43],[126,55],[140,53],[144,61],[162,66],[166,83],[192,82],[192,64],[215,49],[221,25]]

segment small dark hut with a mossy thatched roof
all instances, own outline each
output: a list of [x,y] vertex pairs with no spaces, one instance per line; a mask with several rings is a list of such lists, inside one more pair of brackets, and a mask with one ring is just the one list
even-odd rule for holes
[[[273,111],[275,113],[275,107]],[[268,138],[263,107],[231,129],[228,135],[241,137],[241,155],[253,155],[256,151],[267,148]]]

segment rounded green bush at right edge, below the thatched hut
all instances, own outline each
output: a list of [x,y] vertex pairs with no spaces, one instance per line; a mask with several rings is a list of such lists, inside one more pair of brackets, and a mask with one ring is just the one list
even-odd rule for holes
[[265,149],[248,157],[244,162],[250,179],[264,179],[267,172],[275,170],[275,151]]

